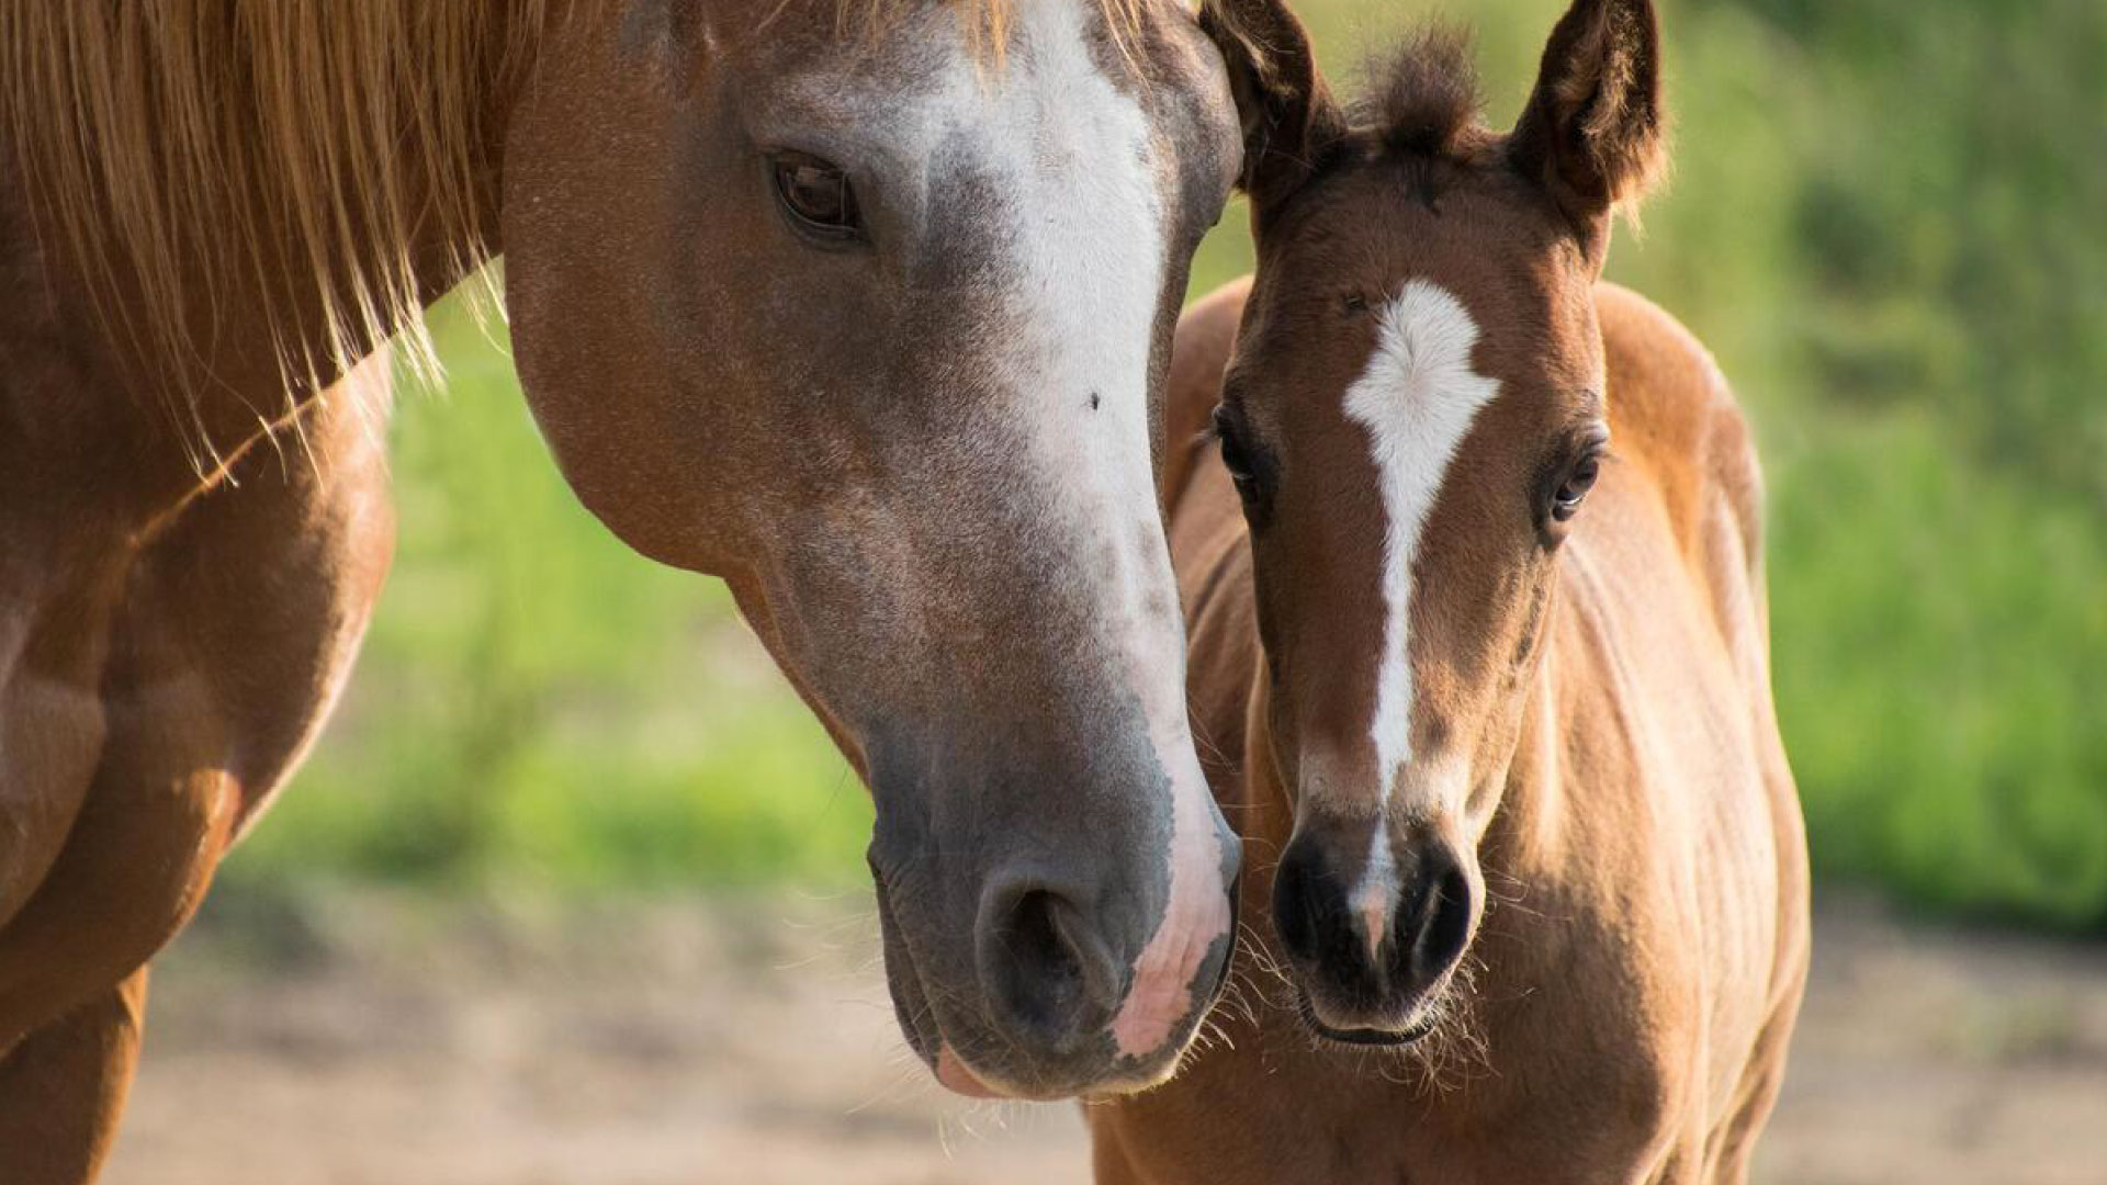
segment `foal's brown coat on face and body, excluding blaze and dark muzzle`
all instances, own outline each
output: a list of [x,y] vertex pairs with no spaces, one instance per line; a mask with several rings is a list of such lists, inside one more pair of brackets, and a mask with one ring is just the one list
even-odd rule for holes
[[[1652,17],[1627,0],[1576,13],[1606,6]],[[1547,57],[1547,74],[1572,67]],[[1654,137],[1658,114],[1622,127]],[[1220,401],[1275,470],[1239,496],[1186,436],[1165,489],[1195,732],[1220,751],[1207,774],[1252,854],[1254,926],[1222,1042],[1169,1086],[1087,1109],[1100,1183],[1747,1179],[1808,968],[1757,462],[1705,348],[1595,278],[1612,196],[1643,177],[1574,186],[1515,139],[1477,129],[1458,141],[1475,148],[1429,156],[1361,124],[1348,162],[1258,221],[1256,280],[1180,323],[1169,422],[1190,430]],[[1643,173],[1658,152],[1593,158]],[[1433,207],[1416,175],[1439,179]],[[1595,200],[1568,205],[1576,192]],[[1416,761],[1462,761],[1469,782],[1439,795],[1407,763],[1389,814],[1401,867],[1462,852],[1477,915],[1454,970],[1372,1006],[1260,919],[1294,848],[1357,875],[1367,782],[1386,776],[1359,736],[1382,630],[1376,470],[1338,403],[1372,350],[1363,293],[1405,278],[1473,312],[1473,365],[1500,382],[1429,514],[1412,618]],[[1580,512],[1523,521],[1536,458],[1591,420],[1612,460]],[[1367,782],[1313,789],[1317,759]],[[1353,1048],[1311,1018],[1426,1035]]]

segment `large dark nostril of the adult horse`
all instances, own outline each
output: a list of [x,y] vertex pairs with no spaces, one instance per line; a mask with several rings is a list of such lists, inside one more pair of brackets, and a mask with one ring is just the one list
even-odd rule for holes
[[999,1021],[1032,1044],[1062,1048],[1096,1031],[1119,997],[1104,943],[1051,890],[1013,894],[986,921],[980,945]]

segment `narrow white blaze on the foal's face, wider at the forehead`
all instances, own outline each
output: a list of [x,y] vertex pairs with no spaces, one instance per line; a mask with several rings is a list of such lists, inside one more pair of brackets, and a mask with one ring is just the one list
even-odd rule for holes
[[[1412,761],[1412,574],[1420,531],[1477,409],[1500,384],[1471,367],[1477,323],[1439,285],[1412,280],[1380,312],[1367,371],[1346,390],[1346,415],[1367,428],[1382,485],[1382,656],[1376,668],[1376,831],[1355,900],[1395,896],[1391,791]],[[1372,943],[1376,938],[1372,936]]]

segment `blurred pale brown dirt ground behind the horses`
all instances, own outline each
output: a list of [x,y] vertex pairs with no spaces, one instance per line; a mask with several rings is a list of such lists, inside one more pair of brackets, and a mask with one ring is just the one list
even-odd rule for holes
[[[906,1061],[872,934],[860,896],[219,909],[105,1183],[1085,1181],[1072,1107]],[[2107,947],[1825,907],[1793,1056],[1764,1183],[2107,1183]]]

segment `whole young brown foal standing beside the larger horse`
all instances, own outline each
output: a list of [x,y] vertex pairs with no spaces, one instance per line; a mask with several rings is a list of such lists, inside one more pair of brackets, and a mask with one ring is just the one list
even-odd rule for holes
[[1167,466],[1171,555],[1287,985],[1089,1109],[1098,1179],[1745,1181],[1806,850],[1747,426],[1599,283],[1662,154],[1652,4],[1576,0],[1513,135],[1460,40],[1346,112],[1275,0],[1209,19],[1258,274],[1178,331],[1171,439],[1212,409],[1224,464]]

